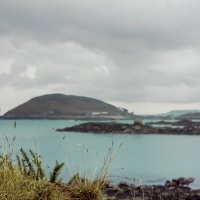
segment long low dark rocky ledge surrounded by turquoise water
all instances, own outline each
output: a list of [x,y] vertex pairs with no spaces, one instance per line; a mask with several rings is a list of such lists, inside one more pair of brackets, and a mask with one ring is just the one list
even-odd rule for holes
[[57,129],[57,131],[86,132],[86,133],[121,133],[121,134],[178,134],[200,135],[199,126],[186,124],[183,128],[154,127],[149,124],[121,124],[88,122],[73,127]]

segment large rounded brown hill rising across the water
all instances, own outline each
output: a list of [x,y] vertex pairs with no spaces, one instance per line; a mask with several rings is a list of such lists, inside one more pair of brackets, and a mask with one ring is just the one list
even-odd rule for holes
[[35,97],[8,111],[4,119],[128,118],[127,112],[103,101],[63,94]]

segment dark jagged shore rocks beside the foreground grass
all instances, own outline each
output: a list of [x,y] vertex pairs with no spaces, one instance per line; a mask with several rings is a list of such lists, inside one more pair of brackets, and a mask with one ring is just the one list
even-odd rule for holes
[[200,190],[192,190],[188,184],[193,178],[166,181],[165,185],[135,186],[126,182],[118,185],[106,183],[103,192],[108,200],[200,200]]

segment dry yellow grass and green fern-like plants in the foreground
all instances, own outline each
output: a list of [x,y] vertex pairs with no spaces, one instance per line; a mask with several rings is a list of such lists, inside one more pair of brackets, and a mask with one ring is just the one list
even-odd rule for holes
[[40,156],[21,149],[17,163],[3,153],[0,158],[0,200],[98,200],[104,199],[103,179],[95,181],[75,175],[68,183],[58,181],[64,163],[56,162],[48,180]]

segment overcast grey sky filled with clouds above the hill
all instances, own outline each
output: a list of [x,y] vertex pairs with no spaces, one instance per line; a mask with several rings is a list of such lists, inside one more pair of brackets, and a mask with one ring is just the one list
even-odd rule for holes
[[200,109],[199,0],[0,0],[0,107],[63,93],[137,114]]

